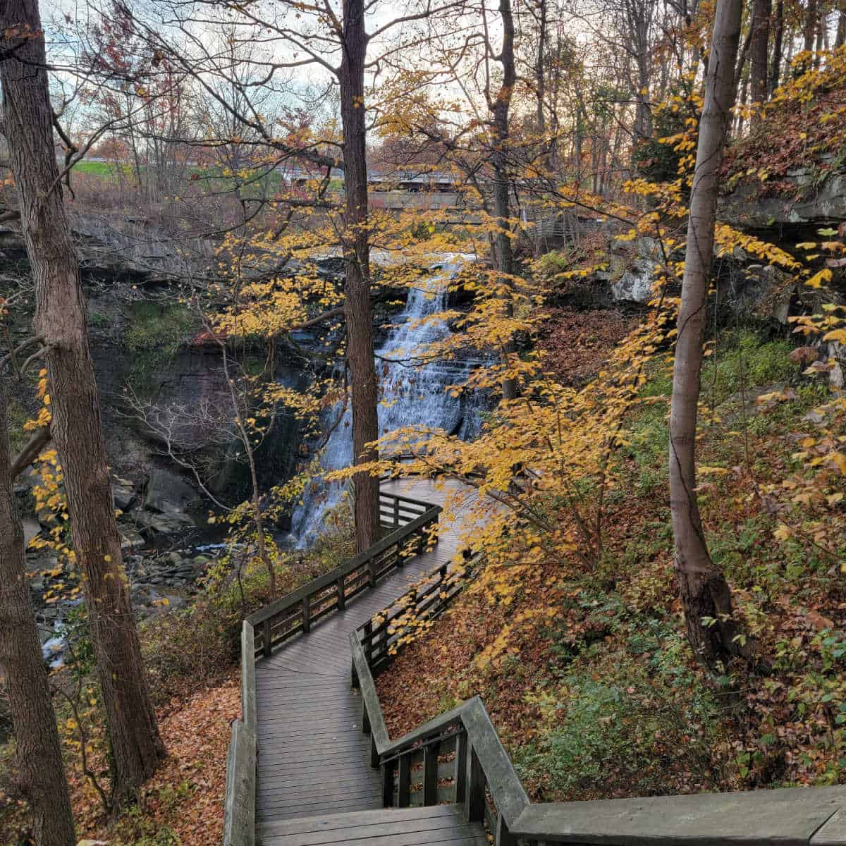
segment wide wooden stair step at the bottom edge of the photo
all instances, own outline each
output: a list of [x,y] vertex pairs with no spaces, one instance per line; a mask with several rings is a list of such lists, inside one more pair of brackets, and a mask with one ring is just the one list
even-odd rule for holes
[[486,846],[479,822],[464,820],[464,805],[356,810],[304,816],[259,826],[261,846]]

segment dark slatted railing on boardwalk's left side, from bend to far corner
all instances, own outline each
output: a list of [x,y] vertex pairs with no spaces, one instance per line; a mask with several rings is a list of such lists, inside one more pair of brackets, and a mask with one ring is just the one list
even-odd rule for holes
[[381,541],[338,569],[250,614],[247,622],[255,629],[255,656],[271,655],[295,634],[307,633],[327,614],[343,611],[354,596],[374,587],[437,540],[433,530],[441,513],[439,505],[382,493],[379,511],[382,528],[390,530]]

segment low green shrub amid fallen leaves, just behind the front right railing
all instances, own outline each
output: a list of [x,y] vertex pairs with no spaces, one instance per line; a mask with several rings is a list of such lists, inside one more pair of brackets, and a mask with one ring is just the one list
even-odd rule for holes
[[[517,751],[541,799],[675,792],[683,772],[707,782],[717,708],[689,671],[681,636],[646,626],[629,641],[638,658],[615,653],[566,675],[557,706],[547,703],[551,728]],[[644,665],[640,653],[654,657]]]

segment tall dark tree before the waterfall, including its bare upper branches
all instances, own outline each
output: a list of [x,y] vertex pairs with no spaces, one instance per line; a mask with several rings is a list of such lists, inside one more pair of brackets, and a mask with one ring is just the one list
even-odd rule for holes
[[[277,162],[294,159],[311,168],[343,170],[343,219],[338,223],[338,241],[345,260],[344,315],[347,328],[347,361],[351,375],[351,406],[353,412],[354,462],[365,463],[376,458],[374,448],[378,431],[378,381],[373,349],[373,315],[371,309],[371,222],[367,207],[366,133],[368,129],[368,86],[365,80],[381,69],[391,67],[404,49],[419,47],[421,37],[415,24],[429,19],[441,8],[459,5],[459,0],[447,0],[443,6],[434,3],[409,4],[407,14],[391,9],[376,14],[376,4],[364,0],[343,0],[341,3],[300,3],[282,0],[267,7],[244,6],[219,0],[209,4],[228,16],[239,31],[256,32],[273,58],[256,57],[263,85],[273,85],[282,74],[294,71],[319,74],[328,80],[327,91],[337,91],[340,103],[341,137],[327,132],[325,138],[299,134],[293,140],[268,123],[254,106],[252,91],[244,86],[239,106],[232,96],[221,96],[210,80],[225,80],[240,85],[232,72],[228,57],[211,51],[195,36],[195,25],[207,20],[203,7],[186,12],[180,3],[171,3],[165,24],[141,20],[135,26],[156,50],[168,55],[186,74],[192,74],[206,96],[211,97],[239,125],[239,135],[250,130],[273,151]],[[121,7],[124,8],[124,7]],[[191,17],[191,15],[195,15]],[[378,21],[371,30],[367,20]],[[399,33],[393,40],[392,33]],[[179,46],[176,37],[179,36]],[[174,36],[174,37],[171,37]],[[154,51],[155,52],[155,51]],[[255,87],[250,83],[250,88]],[[334,117],[334,116],[333,116]],[[328,122],[333,126],[333,122]],[[292,134],[293,135],[293,134]],[[274,198],[284,205],[284,198]],[[326,201],[303,198],[288,200],[305,206],[309,203],[325,207]],[[379,531],[379,483],[367,473],[354,475],[354,514],[356,546],[364,550],[376,540]]]

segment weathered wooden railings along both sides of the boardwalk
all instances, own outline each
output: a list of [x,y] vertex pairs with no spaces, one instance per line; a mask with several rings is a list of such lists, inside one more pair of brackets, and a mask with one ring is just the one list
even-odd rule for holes
[[[255,659],[346,602],[431,539],[440,508],[382,494],[382,541],[244,621],[242,716],[228,750],[224,846],[255,846]],[[415,516],[415,513],[417,516]],[[431,619],[460,591],[447,567],[432,570],[397,603],[350,634],[352,682],[361,692],[371,766],[382,772],[385,807],[464,806],[497,846],[545,843],[690,846],[846,846],[846,788],[755,790],[648,799],[533,804],[479,697],[391,740],[374,674],[404,642],[409,619]],[[259,638],[256,638],[257,634]],[[256,642],[258,640],[258,642]]]

